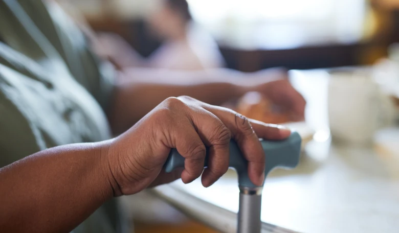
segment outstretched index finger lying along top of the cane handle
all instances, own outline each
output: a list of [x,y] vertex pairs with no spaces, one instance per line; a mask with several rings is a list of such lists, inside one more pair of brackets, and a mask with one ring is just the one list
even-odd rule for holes
[[283,126],[266,124],[252,119],[250,119],[249,121],[259,138],[269,140],[281,140],[291,135],[291,130]]

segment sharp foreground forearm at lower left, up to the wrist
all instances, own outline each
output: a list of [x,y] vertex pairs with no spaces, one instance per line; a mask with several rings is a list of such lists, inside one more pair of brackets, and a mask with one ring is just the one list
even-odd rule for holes
[[112,198],[101,147],[57,147],[0,169],[0,232],[69,232]]

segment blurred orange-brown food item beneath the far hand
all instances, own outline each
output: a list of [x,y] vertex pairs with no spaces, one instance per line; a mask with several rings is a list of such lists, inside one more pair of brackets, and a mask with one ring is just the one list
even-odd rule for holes
[[290,121],[284,113],[273,112],[273,103],[259,92],[248,92],[243,96],[235,109],[248,118],[271,124],[282,124]]

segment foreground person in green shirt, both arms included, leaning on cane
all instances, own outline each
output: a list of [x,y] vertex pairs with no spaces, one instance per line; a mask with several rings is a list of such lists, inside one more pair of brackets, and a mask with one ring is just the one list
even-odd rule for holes
[[[233,135],[243,140],[243,151],[255,156],[248,159],[256,160],[264,159],[253,151],[260,145],[257,135],[271,139],[289,135],[210,104],[258,91],[293,119],[304,116],[304,99],[279,70],[116,72],[93,53],[74,20],[50,0],[1,1],[0,41],[2,232],[127,232],[113,197],[180,177],[190,182],[201,174],[200,160],[193,162],[194,175],[163,173],[170,148],[179,150],[183,142],[195,146],[193,138],[199,145],[202,140],[209,146],[228,145]],[[183,95],[208,104],[169,98]],[[204,133],[203,139],[195,127]],[[208,136],[216,129],[229,133],[223,138],[218,133],[213,142]],[[193,152],[187,145],[182,149]],[[223,164],[214,168],[219,169],[217,174],[228,162],[220,161]],[[255,161],[254,166],[252,177],[260,183],[264,161]],[[210,173],[203,175],[206,186],[219,177],[205,173]]]

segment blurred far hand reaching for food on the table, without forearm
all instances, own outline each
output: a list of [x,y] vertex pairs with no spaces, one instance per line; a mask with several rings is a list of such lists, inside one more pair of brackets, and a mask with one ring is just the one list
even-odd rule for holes
[[[265,80],[265,77],[268,79]],[[274,104],[281,107],[284,112],[289,114],[291,121],[305,119],[306,101],[291,85],[284,69],[273,68],[256,72],[253,81],[250,90],[261,92]]]

